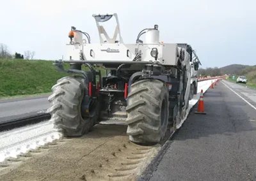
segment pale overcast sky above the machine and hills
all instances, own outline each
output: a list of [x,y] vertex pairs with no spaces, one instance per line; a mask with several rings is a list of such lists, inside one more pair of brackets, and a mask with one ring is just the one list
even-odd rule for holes
[[[255,65],[256,1],[253,0],[0,0],[0,43],[10,51],[61,59],[73,25],[99,43],[94,13],[117,13],[125,43],[159,25],[160,41],[189,43],[202,67]],[[114,31],[111,27],[108,30]],[[112,32],[109,33],[113,34]]]

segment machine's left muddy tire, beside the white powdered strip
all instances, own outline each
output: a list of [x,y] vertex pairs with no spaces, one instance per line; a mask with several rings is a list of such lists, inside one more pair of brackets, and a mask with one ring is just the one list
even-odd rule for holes
[[52,94],[48,98],[51,103],[48,112],[51,113],[54,127],[63,136],[82,136],[88,133],[99,116],[99,110],[96,110],[94,117],[81,115],[81,103],[86,89],[88,90],[88,85],[81,76],[66,76],[52,87]]

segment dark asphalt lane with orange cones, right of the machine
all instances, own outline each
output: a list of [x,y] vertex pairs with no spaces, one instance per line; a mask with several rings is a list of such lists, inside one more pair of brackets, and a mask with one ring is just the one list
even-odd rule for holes
[[195,105],[144,180],[256,180],[255,96],[255,90],[227,81],[208,89],[207,114],[195,115]]

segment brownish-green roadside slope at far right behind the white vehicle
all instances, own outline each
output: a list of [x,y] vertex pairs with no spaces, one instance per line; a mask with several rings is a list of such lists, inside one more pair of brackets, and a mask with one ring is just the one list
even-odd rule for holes
[[[247,68],[244,68],[241,70],[241,73],[239,75],[246,76],[247,83],[239,83],[239,85],[244,85],[251,87],[253,89],[256,89],[256,66],[249,66]],[[230,82],[235,82],[239,75],[235,76],[235,79],[233,80],[232,77],[228,78]]]

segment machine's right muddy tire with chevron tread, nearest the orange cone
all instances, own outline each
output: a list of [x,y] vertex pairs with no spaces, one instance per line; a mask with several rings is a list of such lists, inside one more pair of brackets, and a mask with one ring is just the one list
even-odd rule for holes
[[156,79],[131,85],[127,101],[127,134],[134,143],[159,143],[168,126],[168,87]]

